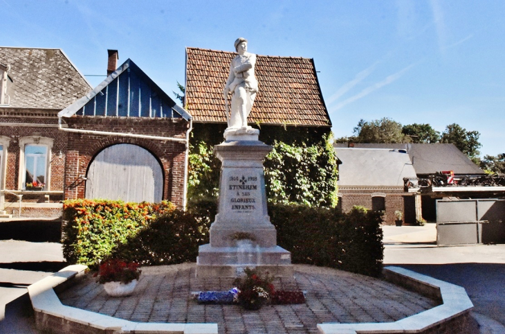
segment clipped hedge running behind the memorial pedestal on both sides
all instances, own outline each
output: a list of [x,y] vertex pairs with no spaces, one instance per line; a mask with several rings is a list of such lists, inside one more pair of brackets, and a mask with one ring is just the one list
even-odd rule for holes
[[[140,214],[131,212],[136,206]],[[67,201],[64,256],[69,263],[91,266],[108,257],[143,265],[196,261],[198,246],[209,242],[216,209],[212,199],[190,202],[186,212],[167,203]],[[277,229],[277,243],[291,252],[293,263],[380,274],[380,213],[288,204],[269,204],[268,213]]]

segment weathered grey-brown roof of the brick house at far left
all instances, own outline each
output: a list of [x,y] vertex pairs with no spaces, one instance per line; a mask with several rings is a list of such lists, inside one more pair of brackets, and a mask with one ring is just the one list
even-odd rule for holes
[[9,107],[62,109],[92,88],[61,49],[0,46],[0,63],[10,66]]

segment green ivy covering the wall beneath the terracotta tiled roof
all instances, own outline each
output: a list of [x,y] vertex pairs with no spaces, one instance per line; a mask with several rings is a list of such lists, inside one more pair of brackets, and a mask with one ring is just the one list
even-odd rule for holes
[[[187,189],[190,201],[217,198],[221,162],[213,149],[223,141],[224,128],[200,124],[192,132]],[[337,158],[329,130],[262,126],[259,139],[273,146],[264,161],[270,202],[336,206]]]

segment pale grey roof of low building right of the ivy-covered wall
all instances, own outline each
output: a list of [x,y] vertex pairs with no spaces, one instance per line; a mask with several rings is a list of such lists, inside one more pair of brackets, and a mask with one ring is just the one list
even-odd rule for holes
[[336,148],[338,186],[403,186],[403,177],[416,177],[407,153],[398,150]]

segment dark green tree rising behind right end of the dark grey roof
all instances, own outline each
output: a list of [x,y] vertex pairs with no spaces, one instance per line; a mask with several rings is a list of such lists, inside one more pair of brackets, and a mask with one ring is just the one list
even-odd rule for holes
[[460,125],[453,123],[447,125],[440,142],[455,144],[461,152],[472,159],[477,158],[480,154],[479,148],[482,145],[479,143],[479,137],[480,133],[478,131],[466,131]]

